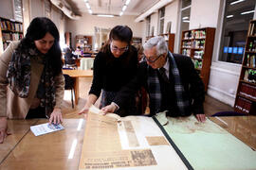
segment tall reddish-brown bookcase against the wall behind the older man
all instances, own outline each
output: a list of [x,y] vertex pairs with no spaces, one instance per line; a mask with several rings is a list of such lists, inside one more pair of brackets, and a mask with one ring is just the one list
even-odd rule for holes
[[191,57],[194,68],[208,90],[215,28],[205,27],[182,32],[180,54]]

